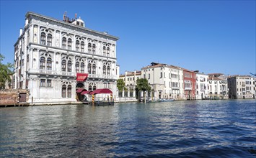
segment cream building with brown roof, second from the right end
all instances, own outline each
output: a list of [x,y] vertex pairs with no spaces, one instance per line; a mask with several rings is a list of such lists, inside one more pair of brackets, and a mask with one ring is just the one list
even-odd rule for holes
[[226,99],[229,98],[227,78],[222,73],[210,73],[209,76],[209,94],[211,98]]

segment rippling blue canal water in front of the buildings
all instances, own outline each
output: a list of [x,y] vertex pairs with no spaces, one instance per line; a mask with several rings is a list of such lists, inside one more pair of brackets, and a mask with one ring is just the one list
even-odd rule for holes
[[0,157],[256,157],[256,101],[0,108]]

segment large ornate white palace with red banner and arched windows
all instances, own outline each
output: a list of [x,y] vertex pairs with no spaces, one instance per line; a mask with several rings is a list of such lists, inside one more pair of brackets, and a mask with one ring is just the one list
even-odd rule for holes
[[118,37],[87,29],[82,19],[63,21],[27,12],[14,45],[14,88],[30,90],[31,103],[81,101],[81,91],[116,94]]

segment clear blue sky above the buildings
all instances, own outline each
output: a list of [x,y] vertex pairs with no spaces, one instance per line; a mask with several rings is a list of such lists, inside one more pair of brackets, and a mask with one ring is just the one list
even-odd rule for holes
[[1,54],[13,62],[25,14],[81,17],[119,37],[120,73],[151,62],[203,73],[256,73],[255,1],[1,1]]

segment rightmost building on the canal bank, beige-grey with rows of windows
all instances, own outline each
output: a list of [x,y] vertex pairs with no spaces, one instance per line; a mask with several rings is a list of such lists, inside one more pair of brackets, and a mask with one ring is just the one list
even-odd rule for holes
[[229,98],[255,98],[256,79],[250,75],[229,76]]

